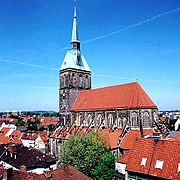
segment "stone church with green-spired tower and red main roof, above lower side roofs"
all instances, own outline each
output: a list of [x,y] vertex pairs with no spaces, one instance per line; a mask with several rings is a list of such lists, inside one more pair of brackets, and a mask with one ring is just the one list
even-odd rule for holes
[[91,70],[81,51],[76,4],[71,49],[60,68],[59,114],[63,126],[151,128],[158,108],[138,82],[91,89]]

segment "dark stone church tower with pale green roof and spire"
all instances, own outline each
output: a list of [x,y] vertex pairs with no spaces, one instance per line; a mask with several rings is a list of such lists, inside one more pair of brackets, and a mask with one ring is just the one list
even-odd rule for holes
[[77,26],[76,1],[74,3],[74,19],[71,49],[60,68],[59,113],[62,125],[71,120],[70,110],[81,90],[91,89],[91,70],[81,53]]

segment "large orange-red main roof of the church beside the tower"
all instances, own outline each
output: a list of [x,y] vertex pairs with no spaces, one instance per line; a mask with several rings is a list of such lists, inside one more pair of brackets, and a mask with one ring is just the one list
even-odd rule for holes
[[81,91],[72,111],[157,108],[137,82]]

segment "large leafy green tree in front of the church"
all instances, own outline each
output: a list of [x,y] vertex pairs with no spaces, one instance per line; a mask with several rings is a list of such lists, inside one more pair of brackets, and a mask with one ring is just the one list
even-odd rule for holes
[[93,179],[113,179],[115,156],[97,133],[77,134],[59,150],[59,164],[70,164]]

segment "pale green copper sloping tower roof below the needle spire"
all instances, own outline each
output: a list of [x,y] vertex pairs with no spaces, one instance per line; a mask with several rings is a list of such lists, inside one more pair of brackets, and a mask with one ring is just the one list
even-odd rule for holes
[[78,63],[77,56],[78,56],[78,50],[75,48],[70,49],[66,53],[66,56],[64,58],[60,70],[73,68],[73,69],[91,71],[82,53],[80,54],[80,58],[81,58],[80,63]]

